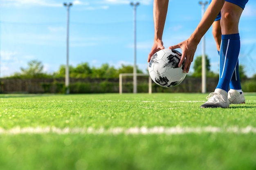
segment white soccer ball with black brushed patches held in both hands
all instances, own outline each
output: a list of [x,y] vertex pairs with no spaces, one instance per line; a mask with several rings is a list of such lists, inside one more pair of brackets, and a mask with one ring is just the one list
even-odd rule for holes
[[184,62],[179,68],[181,53],[177,50],[163,49],[156,52],[148,63],[148,72],[152,80],[161,87],[174,87],[185,78]]

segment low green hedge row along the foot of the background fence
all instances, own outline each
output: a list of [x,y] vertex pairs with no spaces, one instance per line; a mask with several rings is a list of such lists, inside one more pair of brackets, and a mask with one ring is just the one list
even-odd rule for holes
[[[44,89],[44,93],[65,93],[66,88],[64,83],[41,83]],[[159,85],[152,83],[152,92],[201,92],[200,88],[195,88],[195,85],[191,82],[181,83],[180,85],[172,88],[164,88]],[[215,86],[211,89],[207,87],[207,91],[213,91]],[[243,92],[256,92],[256,80],[248,79],[242,83]],[[133,84],[132,82],[123,83],[123,93],[132,93]],[[148,93],[148,83],[138,83],[138,93]],[[102,81],[101,83],[84,83],[76,82],[70,84],[70,93],[119,93],[119,83]]]

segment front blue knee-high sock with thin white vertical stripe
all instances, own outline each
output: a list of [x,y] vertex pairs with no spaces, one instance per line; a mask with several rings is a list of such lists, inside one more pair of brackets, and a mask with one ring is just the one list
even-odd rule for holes
[[220,76],[216,89],[229,90],[229,83],[233,75],[238,55],[240,52],[240,36],[237,34],[229,34],[221,36],[220,45]]

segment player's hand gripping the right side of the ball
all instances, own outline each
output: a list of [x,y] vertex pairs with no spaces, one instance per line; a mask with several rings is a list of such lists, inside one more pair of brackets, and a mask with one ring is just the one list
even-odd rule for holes
[[191,39],[187,39],[175,46],[169,47],[169,49],[175,49],[175,48],[182,49],[182,56],[181,56],[181,60],[180,60],[180,63],[178,66],[181,67],[184,59],[186,58],[184,69],[183,69],[184,73],[189,72],[189,68],[190,68],[191,62],[193,61],[195,50],[196,50],[197,46],[198,46],[197,42],[192,41]]

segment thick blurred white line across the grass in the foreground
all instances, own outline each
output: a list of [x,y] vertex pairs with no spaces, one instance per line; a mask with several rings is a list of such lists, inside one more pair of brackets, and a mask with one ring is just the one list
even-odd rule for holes
[[12,129],[2,129],[0,128],[0,135],[16,135],[16,134],[103,134],[103,135],[152,135],[152,134],[166,134],[166,135],[180,135],[180,134],[189,134],[189,133],[238,133],[238,134],[247,134],[247,133],[256,133],[256,127],[247,126],[244,128],[239,128],[236,126],[231,127],[162,127],[155,126],[151,128],[147,127],[131,127],[131,128],[99,128],[94,129],[92,127],[88,128],[56,128],[56,127],[15,127]]

